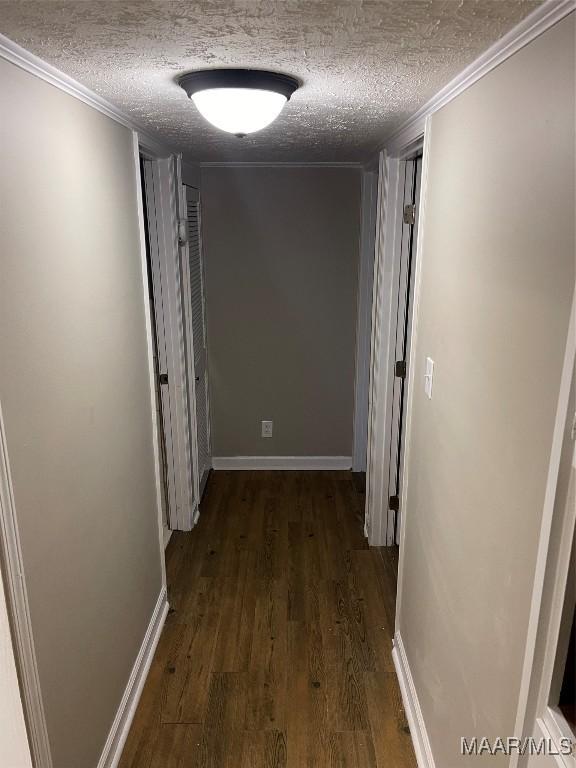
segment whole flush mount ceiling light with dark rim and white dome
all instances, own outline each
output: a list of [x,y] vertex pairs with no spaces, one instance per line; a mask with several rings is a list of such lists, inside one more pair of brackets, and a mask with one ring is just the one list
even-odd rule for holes
[[236,136],[274,122],[299,85],[293,77],[259,69],[204,69],[178,83],[209,123]]

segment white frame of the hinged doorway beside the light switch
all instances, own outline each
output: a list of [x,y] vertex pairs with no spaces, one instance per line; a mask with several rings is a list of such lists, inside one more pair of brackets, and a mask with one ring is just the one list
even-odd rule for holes
[[[396,362],[398,280],[402,264],[402,228],[404,209],[404,168],[406,162],[423,154],[420,179],[420,210],[416,227],[416,253],[413,264],[412,324],[408,349],[408,370],[414,370],[412,359],[415,348],[419,301],[419,275],[421,267],[421,232],[423,226],[423,201],[426,185],[426,144],[429,120],[423,133],[410,135],[388,154],[380,153],[378,174],[378,207],[376,218],[376,248],[374,260],[374,284],[372,296],[372,338],[370,362],[370,392],[368,416],[368,462],[366,476],[366,509],[364,532],[371,546],[392,546],[396,543],[394,526],[390,526],[388,514],[390,456],[392,439],[392,412],[394,397],[394,365]],[[409,451],[412,379],[408,379],[405,394],[405,443],[404,465]],[[401,478],[398,495],[405,508],[404,489],[406,472]],[[402,546],[403,516],[399,530]]]

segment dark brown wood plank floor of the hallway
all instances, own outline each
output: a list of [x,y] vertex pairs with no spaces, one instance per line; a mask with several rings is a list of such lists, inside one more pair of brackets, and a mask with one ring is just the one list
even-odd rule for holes
[[349,472],[214,472],[119,768],[415,768]]

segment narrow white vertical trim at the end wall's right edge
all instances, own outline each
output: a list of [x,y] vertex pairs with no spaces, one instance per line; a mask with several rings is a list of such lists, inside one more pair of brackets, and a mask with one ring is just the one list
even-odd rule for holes
[[354,437],[352,470],[365,472],[368,444],[368,390],[370,386],[370,323],[376,240],[378,174],[362,172],[358,309],[356,322],[356,377],[354,383]]

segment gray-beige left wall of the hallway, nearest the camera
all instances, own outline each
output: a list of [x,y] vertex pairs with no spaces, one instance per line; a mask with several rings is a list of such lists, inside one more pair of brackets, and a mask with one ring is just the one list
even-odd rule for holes
[[0,401],[54,768],[93,768],[161,589],[132,135],[0,87]]

